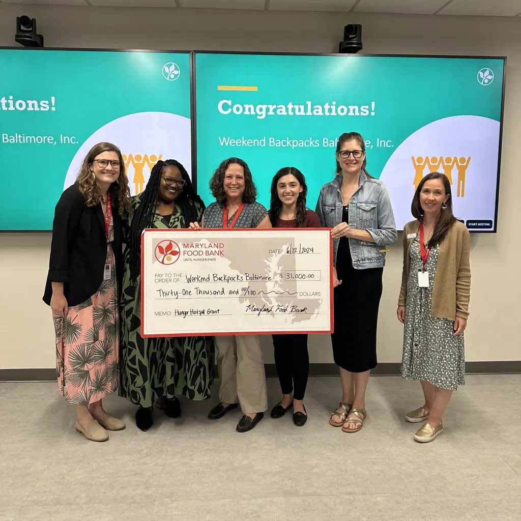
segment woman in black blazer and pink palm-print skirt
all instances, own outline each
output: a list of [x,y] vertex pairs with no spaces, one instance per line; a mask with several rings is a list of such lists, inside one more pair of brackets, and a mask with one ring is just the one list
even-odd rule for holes
[[76,405],[76,430],[92,441],[125,428],[106,413],[102,399],[119,384],[121,216],[129,206],[121,152],[98,143],[54,214],[43,300],[53,311],[60,393]]

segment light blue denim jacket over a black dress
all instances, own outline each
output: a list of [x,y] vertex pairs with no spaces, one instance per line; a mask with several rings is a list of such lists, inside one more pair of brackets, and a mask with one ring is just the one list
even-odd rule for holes
[[[318,196],[316,212],[322,226],[334,228],[342,222],[342,173],[325,184]],[[386,187],[379,179],[367,177],[360,172],[358,190],[349,201],[349,226],[367,230],[376,242],[349,238],[349,249],[355,269],[383,268],[386,254],[382,246],[398,239],[391,200]],[[337,265],[340,239],[333,240],[333,266]]]

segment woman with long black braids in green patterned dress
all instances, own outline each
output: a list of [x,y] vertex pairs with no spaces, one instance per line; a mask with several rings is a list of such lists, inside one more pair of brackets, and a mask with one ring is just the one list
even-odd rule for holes
[[141,233],[146,228],[188,228],[204,203],[184,167],[173,159],[152,168],[145,190],[133,197],[127,219],[121,295],[120,395],[139,405],[141,430],[153,424],[154,402],[171,418],[181,415],[177,396],[206,400],[214,370],[213,337],[141,337]]

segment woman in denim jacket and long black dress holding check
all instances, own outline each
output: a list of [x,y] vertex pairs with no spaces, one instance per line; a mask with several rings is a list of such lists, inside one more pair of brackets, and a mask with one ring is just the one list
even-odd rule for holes
[[337,175],[320,190],[316,212],[332,228],[334,362],[340,367],[342,401],[329,423],[357,432],[367,415],[365,390],[376,367],[376,328],[385,246],[398,238],[389,194],[367,173],[365,142],[357,132],[337,143]]

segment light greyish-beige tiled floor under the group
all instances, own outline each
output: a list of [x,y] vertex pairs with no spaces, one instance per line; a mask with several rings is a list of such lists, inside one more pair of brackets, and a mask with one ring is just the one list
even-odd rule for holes
[[[278,382],[268,380],[270,406]],[[0,383],[0,521],[518,521],[521,518],[521,375],[467,376],[435,442],[419,444],[406,412],[419,384],[372,377],[366,425],[328,425],[336,378],[311,378],[309,420],[268,415],[235,432],[240,413],[209,421],[215,403],[182,400],[141,432],[134,407],[107,443],[76,433],[57,384]]]

